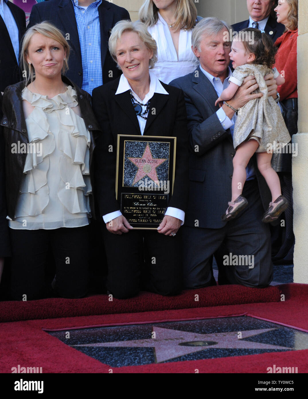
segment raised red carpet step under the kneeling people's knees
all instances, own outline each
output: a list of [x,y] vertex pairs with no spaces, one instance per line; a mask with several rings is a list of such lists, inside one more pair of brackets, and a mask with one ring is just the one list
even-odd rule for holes
[[109,301],[108,295],[94,295],[81,299],[6,301],[0,302],[0,322],[277,301],[280,301],[280,291],[277,286],[260,289],[241,285],[186,290],[177,296],[141,292],[135,298],[125,300],[113,298],[112,302]]

